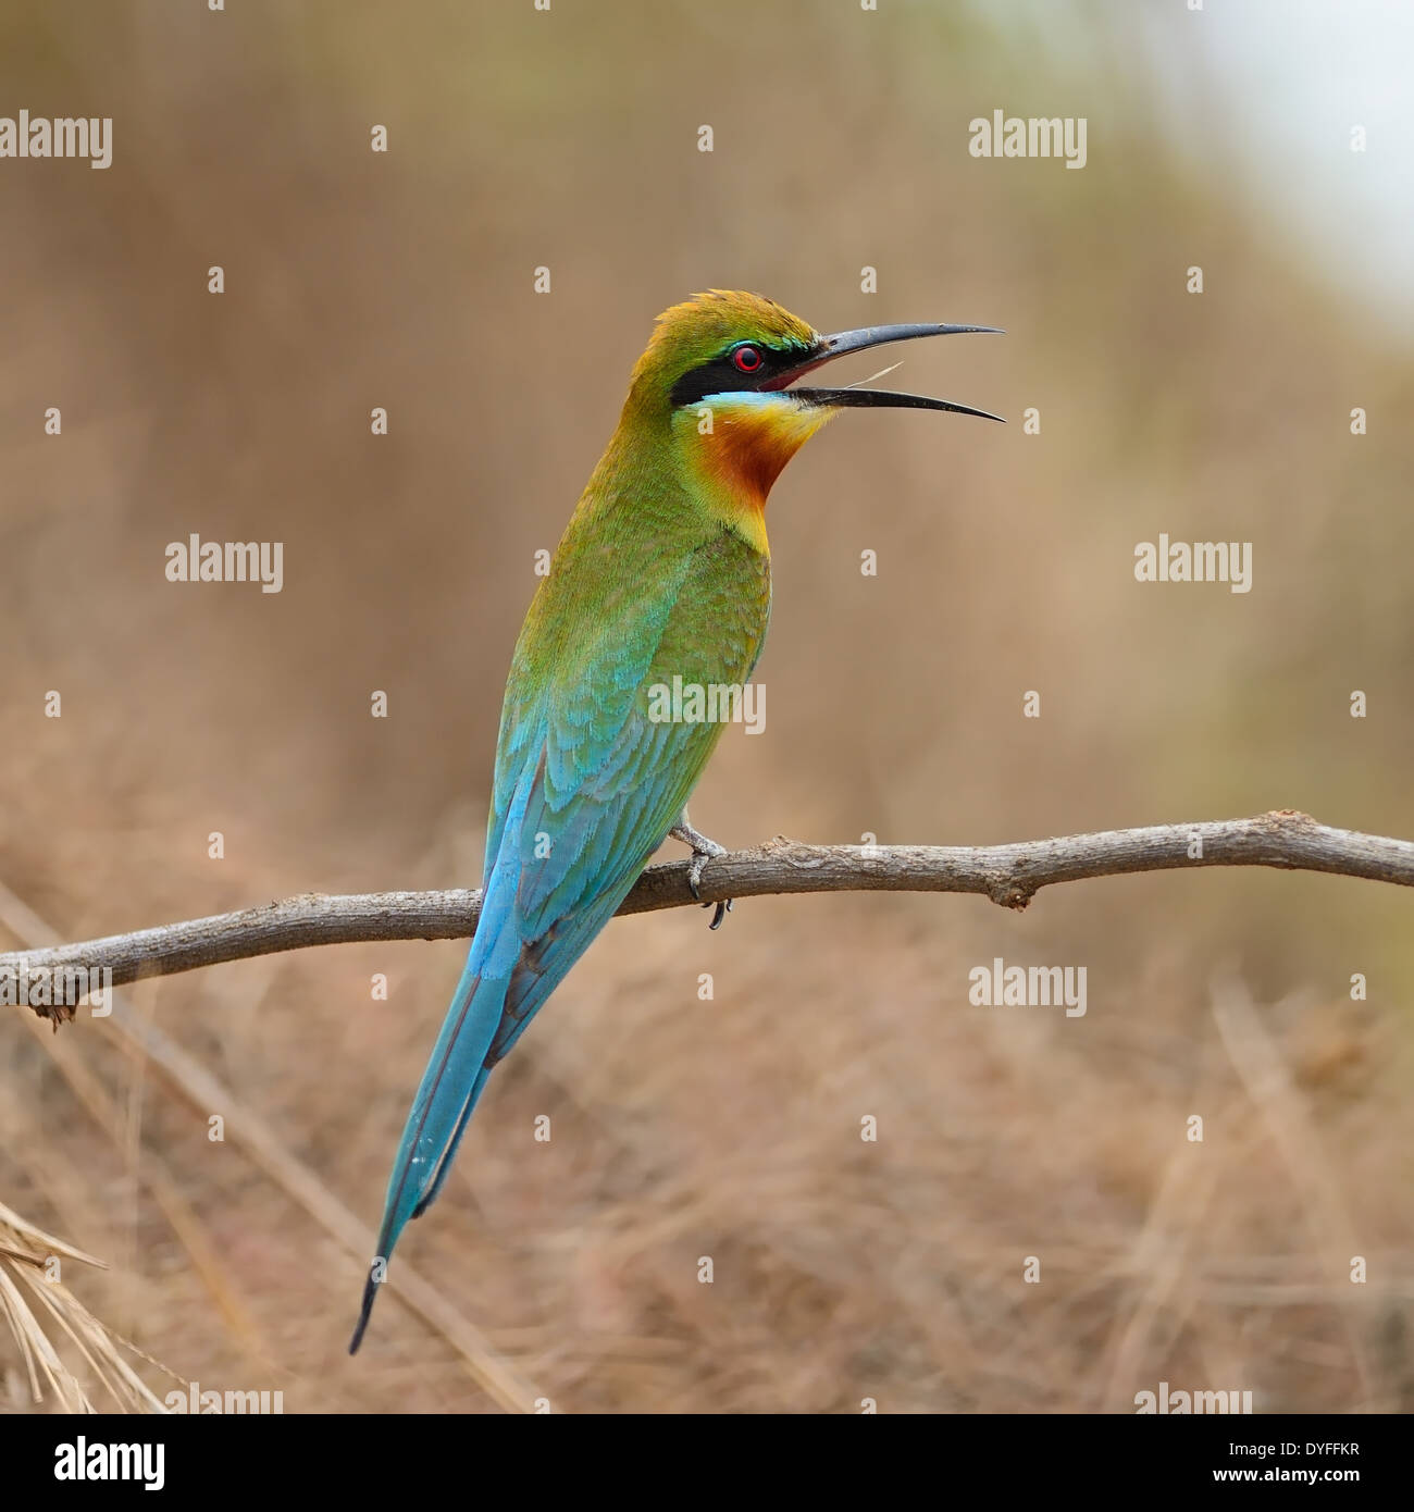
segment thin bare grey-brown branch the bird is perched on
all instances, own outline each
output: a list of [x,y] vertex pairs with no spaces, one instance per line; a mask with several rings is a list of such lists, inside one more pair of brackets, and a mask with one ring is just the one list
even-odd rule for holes
[[[1335,830],[1295,809],[1251,820],[1157,824],[1015,845],[805,845],[777,836],[755,850],[732,851],[708,862],[700,901],[794,892],[975,892],[1001,907],[1024,909],[1040,888],[1057,881],[1199,866],[1325,871],[1411,888],[1414,841]],[[649,913],[687,907],[693,901],[688,863],[670,862],[649,866],[619,912]],[[467,939],[475,933],[479,910],[479,891],[351,897],[307,892],[239,913],[0,956],[0,993],[6,993],[6,981],[11,983],[0,1001],[15,999],[14,981],[26,974],[107,969],[112,984],[124,986],[144,977],[166,977],[307,945]],[[56,1024],[60,1018],[73,1018],[64,1007],[36,1007],[35,1012]]]

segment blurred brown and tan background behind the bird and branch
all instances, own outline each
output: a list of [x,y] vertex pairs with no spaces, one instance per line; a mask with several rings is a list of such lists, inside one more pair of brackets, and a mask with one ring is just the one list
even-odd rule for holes
[[[0,950],[479,883],[535,553],[709,286],[1006,327],[888,383],[1012,423],[845,416],[788,469],[765,733],[699,827],[1409,836],[1411,64],[1405,8],[1335,0],[12,0],[0,115],[112,116],[113,160],[0,160]],[[969,156],[994,110],[1086,118],[1086,166]],[[192,532],[283,541],[283,591],[168,582]],[[1136,582],[1160,532],[1251,541],[1252,591]],[[355,1359],[461,943],[148,981],[127,1028],[5,1013],[0,1202],[109,1263],[65,1284],[159,1399],[1406,1411],[1409,907],[1213,869],[616,921]],[[1084,966],[1087,1013],[974,1007],[998,956]],[[0,1331],[5,1408],[54,1400]]]

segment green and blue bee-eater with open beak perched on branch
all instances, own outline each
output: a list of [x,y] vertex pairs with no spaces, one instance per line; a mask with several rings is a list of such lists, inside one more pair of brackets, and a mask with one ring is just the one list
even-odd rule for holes
[[[402,1131],[349,1353],[410,1219],[446,1181],[487,1078],[671,835],[699,895],[724,848],[687,803],[721,720],[664,717],[655,688],[744,686],[765,641],[765,502],[844,410],[1001,416],[802,378],[853,352],[989,325],[821,336],[773,299],[693,295],[658,316],[511,658],[496,744],[481,915]],[[715,906],[712,928],[726,903]]]

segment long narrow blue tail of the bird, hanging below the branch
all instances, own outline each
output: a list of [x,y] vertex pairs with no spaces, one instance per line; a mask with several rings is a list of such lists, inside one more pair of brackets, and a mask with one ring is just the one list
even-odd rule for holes
[[[490,922],[484,913],[482,922]],[[485,1057],[501,1027],[501,1012],[511,984],[510,972],[498,977],[482,974],[482,963],[491,965],[485,960],[491,954],[495,951],[487,948],[478,930],[466,971],[457,983],[442,1033],[437,1036],[433,1058],[422,1074],[413,1111],[402,1129],[402,1143],[398,1146],[393,1175],[389,1178],[383,1228],[378,1231],[378,1255],[363,1288],[363,1308],[349,1343],[351,1355],[363,1343],[363,1331],[374,1311],[381,1273],[387,1269],[398,1235],[408,1219],[417,1217],[437,1196],[466,1132],[472,1108],[476,1107],[476,1099],[490,1075]]]

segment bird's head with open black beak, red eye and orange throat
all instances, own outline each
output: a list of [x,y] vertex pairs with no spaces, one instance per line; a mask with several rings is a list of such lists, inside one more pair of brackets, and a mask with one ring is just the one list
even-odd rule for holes
[[658,316],[634,369],[625,419],[670,425],[705,478],[756,507],[780,469],[841,410],[986,410],[879,389],[795,387],[836,357],[919,336],[995,331],[991,325],[871,325],[821,336],[758,293],[712,289]]

